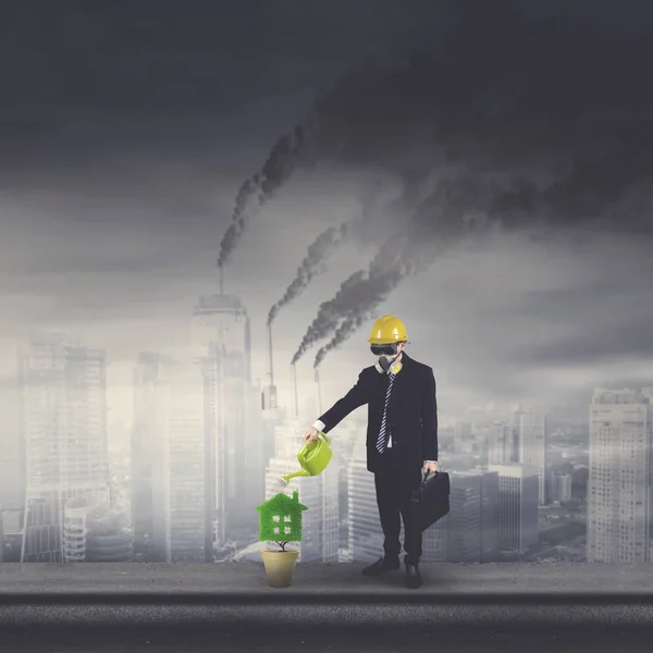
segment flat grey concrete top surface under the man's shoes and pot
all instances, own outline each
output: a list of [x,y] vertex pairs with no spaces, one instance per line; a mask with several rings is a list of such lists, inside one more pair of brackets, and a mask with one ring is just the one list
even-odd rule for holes
[[270,588],[262,563],[201,564],[0,564],[0,601],[40,602],[147,599],[213,603],[418,603],[564,602],[607,595],[653,603],[653,565],[602,564],[422,564],[424,584],[404,587],[403,568],[381,578],[361,575],[362,564],[298,563],[289,588]]

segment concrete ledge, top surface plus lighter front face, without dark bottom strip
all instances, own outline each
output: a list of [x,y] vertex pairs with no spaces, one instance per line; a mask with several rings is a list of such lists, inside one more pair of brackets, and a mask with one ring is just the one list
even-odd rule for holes
[[252,563],[4,564],[0,627],[653,627],[653,565],[422,565],[419,590],[362,566],[299,564],[279,590]]

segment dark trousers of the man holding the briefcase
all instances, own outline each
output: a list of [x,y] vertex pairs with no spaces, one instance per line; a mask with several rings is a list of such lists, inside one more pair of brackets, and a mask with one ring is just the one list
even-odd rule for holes
[[405,560],[408,565],[417,565],[422,553],[422,533],[419,523],[414,522],[409,507],[412,491],[421,481],[421,468],[407,468],[406,461],[392,447],[385,449],[381,459],[381,469],[374,473],[374,484],[381,528],[385,537],[385,557],[399,557],[403,519]]

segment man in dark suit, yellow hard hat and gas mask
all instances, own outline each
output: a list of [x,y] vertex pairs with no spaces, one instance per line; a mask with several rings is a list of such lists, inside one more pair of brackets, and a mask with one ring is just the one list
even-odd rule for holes
[[374,473],[377,504],[385,541],[384,555],[366,567],[366,576],[399,568],[401,519],[404,520],[406,586],[419,588],[422,533],[412,523],[409,504],[422,472],[438,470],[438,403],[433,370],[410,358],[406,326],[394,316],[377,320],[368,340],[377,357],[358,382],[322,415],[306,441],[328,433],[353,410],[368,405],[367,467]]

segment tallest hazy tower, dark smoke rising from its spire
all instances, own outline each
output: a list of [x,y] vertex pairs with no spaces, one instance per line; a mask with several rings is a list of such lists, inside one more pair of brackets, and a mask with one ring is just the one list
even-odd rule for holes
[[264,496],[263,421],[251,383],[249,318],[241,299],[200,297],[190,342],[205,382],[207,465],[215,470],[212,503],[221,545],[256,532],[256,505]]

